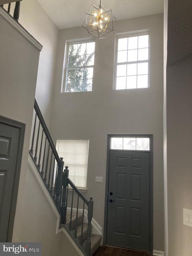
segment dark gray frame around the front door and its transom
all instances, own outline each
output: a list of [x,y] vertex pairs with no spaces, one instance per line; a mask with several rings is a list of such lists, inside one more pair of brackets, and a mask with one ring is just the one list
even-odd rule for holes
[[[150,209],[149,209],[149,253],[153,255],[153,134],[108,134],[107,136],[107,165],[106,165],[106,188],[105,188],[105,210],[104,210],[104,230],[103,246],[107,245],[107,216],[108,216],[108,189],[109,189],[109,164],[110,164],[110,139],[112,137],[142,137],[150,138]],[[146,152],[146,151],[142,151]]]

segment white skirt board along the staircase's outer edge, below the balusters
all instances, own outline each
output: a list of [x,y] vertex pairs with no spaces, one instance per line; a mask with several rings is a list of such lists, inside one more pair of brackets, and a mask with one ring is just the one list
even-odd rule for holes
[[78,245],[76,244],[76,242],[73,240],[73,238],[70,236],[70,234],[68,233],[68,231],[63,227],[63,228],[59,228],[59,225],[60,225],[60,214],[56,208],[56,205],[54,204],[53,202],[53,199],[50,195],[50,193],[48,192],[42,178],[41,178],[41,175],[40,173],[38,172],[30,154],[28,155],[28,166],[30,167],[30,169],[32,170],[38,184],[40,185],[40,188],[42,189],[42,192],[44,193],[48,203],[50,204],[55,216],[56,216],[56,219],[57,219],[57,222],[56,222],[56,232],[55,234],[58,234],[59,232],[64,232],[64,234],[66,235],[66,237],[68,238],[68,240],[71,242],[72,246],[75,248],[75,250],[77,251],[78,255],[79,256],[85,256],[84,253],[82,252],[82,250],[80,250],[80,248],[78,247]]

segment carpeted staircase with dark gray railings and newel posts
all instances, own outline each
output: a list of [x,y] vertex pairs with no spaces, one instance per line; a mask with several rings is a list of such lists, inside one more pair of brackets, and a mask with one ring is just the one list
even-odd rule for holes
[[38,104],[34,103],[30,156],[60,214],[64,227],[85,256],[100,247],[101,236],[92,234],[93,198],[87,200],[68,177],[68,166],[59,158]]

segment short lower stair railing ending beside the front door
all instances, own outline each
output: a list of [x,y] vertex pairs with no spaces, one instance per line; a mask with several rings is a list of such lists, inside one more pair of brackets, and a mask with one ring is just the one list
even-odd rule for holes
[[[64,224],[66,228],[72,232],[72,216],[75,214],[75,225],[74,225],[74,238],[78,239],[80,242],[80,245],[82,246],[84,243],[84,250],[87,256],[90,256],[90,249],[91,249],[91,230],[92,230],[92,217],[93,217],[93,197],[90,196],[89,200],[87,200],[84,195],[78,190],[78,188],[75,186],[75,184],[70,180],[68,177],[69,170],[68,166],[65,166],[65,170],[63,172],[63,178],[62,178],[62,203],[61,203],[61,224]],[[69,202],[69,190],[72,193],[70,201]],[[76,195],[76,207],[74,208],[75,204],[75,195]],[[80,206],[80,200],[82,201],[82,204]],[[67,216],[67,206],[70,204],[69,207],[69,220],[67,222],[66,216]],[[82,208],[80,208],[82,207]],[[84,237],[84,217],[85,217],[85,207],[87,207],[87,218],[88,218],[88,223],[87,223],[87,230],[86,230],[86,236]],[[75,212],[74,212],[75,209]],[[82,212],[82,219],[80,220],[79,223],[79,210]],[[77,227],[81,225],[81,232],[80,236],[77,237]]]

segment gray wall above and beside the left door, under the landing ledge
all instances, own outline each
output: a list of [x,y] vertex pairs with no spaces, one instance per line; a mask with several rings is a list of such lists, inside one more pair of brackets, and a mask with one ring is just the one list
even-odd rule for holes
[[0,15],[0,115],[26,124],[13,240],[20,232],[39,50]]

